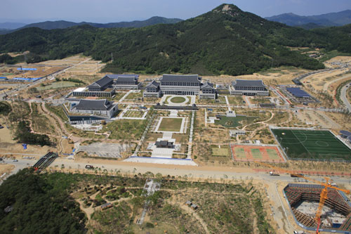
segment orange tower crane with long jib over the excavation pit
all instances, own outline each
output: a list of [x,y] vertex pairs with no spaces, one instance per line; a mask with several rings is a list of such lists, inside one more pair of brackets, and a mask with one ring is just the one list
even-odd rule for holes
[[313,183],[318,183],[319,185],[324,186],[324,188],[322,189],[321,196],[319,198],[319,204],[318,204],[318,209],[317,209],[317,212],[316,212],[316,216],[314,216],[314,220],[317,221],[317,231],[316,231],[317,234],[319,234],[319,227],[321,226],[321,215],[322,215],[322,210],[323,210],[323,207],[324,207],[324,203],[328,199],[328,188],[332,188],[332,189],[335,189],[335,190],[342,191],[342,192],[344,192],[346,194],[350,194],[350,190],[345,190],[343,188],[338,188],[338,187],[332,186],[331,183],[329,183],[330,178],[324,177],[324,179],[326,180],[326,182],[324,183],[324,182],[321,182],[321,181],[314,180],[313,178],[306,177],[303,174],[296,174],[293,171],[289,171],[289,170],[282,169],[282,168],[279,168],[279,167],[274,167],[274,166],[272,166],[270,164],[267,164],[265,162],[257,162],[257,163],[262,164],[262,165],[264,165],[266,167],[270,167],[270,168],[272,168],[274,170],[277,170],[277,171],[284,171],[285,173],[291,174],[292,176],[304,178],[306,181],[312,181]]

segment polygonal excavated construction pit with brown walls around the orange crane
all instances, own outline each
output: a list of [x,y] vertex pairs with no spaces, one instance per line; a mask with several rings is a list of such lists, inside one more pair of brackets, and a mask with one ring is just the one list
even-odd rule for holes
[[[317,212],[323,186],[315,184],[289,183],[284,188],[286,200],[296,221],[307,230],[315,230],[317,221],[314,216]],[[336,233],[351,231],[351,204],[345,194],[338,190],[328,189],[328,199],[324,204],[319,230]]]

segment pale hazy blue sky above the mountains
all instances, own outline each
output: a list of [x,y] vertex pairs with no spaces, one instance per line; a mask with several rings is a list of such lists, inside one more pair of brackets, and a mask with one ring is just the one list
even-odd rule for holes
[[351,0],[0,0],[0,21],[119,22],[152,16],[192,18],[216,6],[235,4],[262,17],[281,13],[318,15],[351,9]]

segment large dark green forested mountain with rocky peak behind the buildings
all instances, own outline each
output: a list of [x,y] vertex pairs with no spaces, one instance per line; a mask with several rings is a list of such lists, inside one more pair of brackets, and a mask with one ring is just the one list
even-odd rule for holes
[[[351,25],[303,30],[221,5],[173,25],[64,30],[26,28],[0,36],[0,53],[31,51],[37,60],[84,53],[113,62],[105,72],[251,74],[271,66],[324,67],[287,46],[351,53]],[[40,57],[40,59],[38,58]]]

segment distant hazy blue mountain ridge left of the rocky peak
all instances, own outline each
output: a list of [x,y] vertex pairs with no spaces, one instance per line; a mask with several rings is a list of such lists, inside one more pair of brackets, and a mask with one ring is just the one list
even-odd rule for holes
[[173,24],[180,21],[182,20],[176,19],[176,18],[164,18],[164,17],[154,16],[147,20],[134,20],[131,22],[109,22],[106,24],[96,23],[96,22],[69,22],[65,20],[45,21],[45,22],[36,22],[33,24],[25,25],[25,27],[39,27],[42,30],[64,29],[67,27],[73,27],[73,26],[79,26],[79,25],[91,25],[93,27],[102,27],[102,28],[145,27],[145,26],[157,25],[157,24]]

